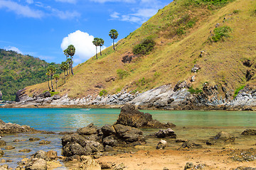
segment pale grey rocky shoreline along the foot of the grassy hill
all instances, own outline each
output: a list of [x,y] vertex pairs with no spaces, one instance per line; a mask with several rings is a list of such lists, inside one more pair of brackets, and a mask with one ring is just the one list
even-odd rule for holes
[[49,92],[29,97],[26,89],[18,91],[16,103],[1,107],[6,108],[122,108],[124,104],[134,104],[139,109],[159,110],[231,110],[255,111],[256,90],[245,86],[233,97],[233,91],[227,91],[224,86],[203,85],[203,91],[197,94],[191,91],[191,85],[186,81],[176,86],[170,84],[159,86],[142,94],[132,94],[122,91],[119,94],[106,96],[85,96],[69,98],[65,96],[50,96]]

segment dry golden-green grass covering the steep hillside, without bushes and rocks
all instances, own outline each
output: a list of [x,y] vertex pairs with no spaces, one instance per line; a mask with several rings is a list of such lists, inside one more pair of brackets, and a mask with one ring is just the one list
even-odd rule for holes
[[[256,1],[237,0],[218,10],[186,2],[174,1],[127,38],[119,40],[116,51],[108,47],[98,60],[92,57],[75,67],[75,75],[68,77],[66,84],[60,80],[58,91],[71,97],[98,94],[102,89],[113,94],[124,87],[131,91],[146,91],[163,84],[175,86],[177,81],[189,81],[193,75],[196,75],[196,81],[192,86],[199,89],[206,81],[228,89],[236,89],[248,82],[255,84],[253,78],[248,82],[245,79],[247,69],[253,71],[254,67],[245,67],[242,62],[248,59],[256,63]],[[238,8],[238,13],[233,13]],[[188,28],[187,21],[181,22],[181,18],[197,21],[196,25]],[[223,18],[226,18],[225,22]],[[230,26],[233,31],[224,42],[210,43],[210,30],[214,30],[216,23]],[[186,34],[176,35],[178,28],[186,28]],[[154,50],[123,64],[122,57],[132,53],[132,47],[149,35],[154,35]],[[206,50],[208,55],[199,57],[201,50]],[[196,74],[191,73],[193,64],[201,66]],[[117,77],[117,69],[126,70],[129,76],[107,83],[105,79],[108,77]],[[97,84],[104,87],[97,89]],[[30,94],[44,90],[47,90],[46,83],[28,87]]]

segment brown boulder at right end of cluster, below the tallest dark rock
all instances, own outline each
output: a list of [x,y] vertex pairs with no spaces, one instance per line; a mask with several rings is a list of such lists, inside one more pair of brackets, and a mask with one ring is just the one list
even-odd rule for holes
[[124,142],[137,142],[143,141],[144,137],[142,136],[142,130],[137,128],[132,128],[127,125],[114,125],[114,129],[117,132],[117,137]]

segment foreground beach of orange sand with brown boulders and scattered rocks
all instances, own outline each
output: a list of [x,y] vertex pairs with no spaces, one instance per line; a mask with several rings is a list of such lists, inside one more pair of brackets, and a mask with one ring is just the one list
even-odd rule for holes
[[[2,134],[52,133],[0,122]],[[144,129],[152,128],[154,132],[144,134]],[[153,120],[149,113],[137,111],[133,105],[125,105],[114,125],[99,128],[91,123],[76,132],[61,133],[61,154],[55,150],[38,150],[17,162],[15,169],[254,170],[256,167],[254,129],[243,130],[240,134],[220,131],[208,140],[181,139],[176,130],[176,125],[172,123],[160,123]],[[186,131],[186,128],[183,127],[183,130]],[[247,147],[241,143],[244,140]],[[40,137],[30,137],[29,141],[50,145],[50,141]],[[15,148],[4,140],[0,140],[0,144],[2,158],[6,150]],[[31,152],[31,149],[22,148],[18,152]],[[9,162],[12,160],[0,158],[0,169],[14,169],[8,166]]]

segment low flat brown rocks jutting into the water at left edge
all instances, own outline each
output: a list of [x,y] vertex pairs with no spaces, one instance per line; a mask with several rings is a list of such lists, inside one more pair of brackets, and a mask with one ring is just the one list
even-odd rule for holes
[[0,133],[20,133],[20,132],[36,132],[37,130],[28,125],[18,125],[15,123],[4,123],[0,120]]

